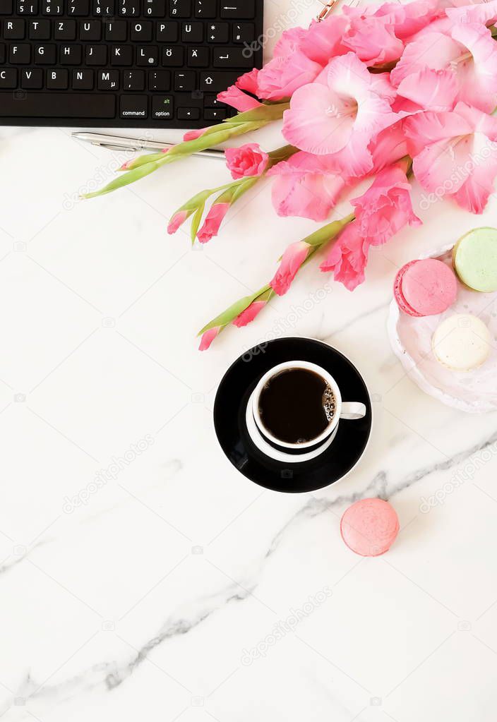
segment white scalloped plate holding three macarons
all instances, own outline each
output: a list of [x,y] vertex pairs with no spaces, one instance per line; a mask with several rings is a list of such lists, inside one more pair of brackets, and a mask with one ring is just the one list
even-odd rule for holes
[[[423,258],[438,258],[451,266],[453,245],[444,246]],[[412,318],[392,300],[387,321],[390,343],[407,375],[422,391],[442,404],[470,414],[497,410],[497,292],[479,293],[458,281],[457,299],[438,316]],[[490,356],[480,368],[457,373],[442,366],[431,350],[431,336],[438,323],[454,313],[473,313],[487,324],[493,339]]]

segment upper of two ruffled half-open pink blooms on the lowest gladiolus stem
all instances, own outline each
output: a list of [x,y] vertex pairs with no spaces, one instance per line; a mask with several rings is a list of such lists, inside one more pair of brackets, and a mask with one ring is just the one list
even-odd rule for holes
[[383,245],[405,225],[421,225],[412,211],[410,183],[398,166],[376,176],[362,196],[350,201],[355,207],[358,232],[370,245]]

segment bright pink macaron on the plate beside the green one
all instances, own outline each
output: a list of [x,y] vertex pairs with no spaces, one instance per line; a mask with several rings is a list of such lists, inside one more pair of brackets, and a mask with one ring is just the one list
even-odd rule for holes
[[408,316],[435,316],[456,300],[457,279],[450,266],[436,258],[410,261],[395,277],[394,297]]

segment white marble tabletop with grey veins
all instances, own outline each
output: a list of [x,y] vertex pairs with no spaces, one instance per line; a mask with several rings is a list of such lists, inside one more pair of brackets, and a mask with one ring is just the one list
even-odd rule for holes
[[[329,280],[308,264],[201,355],[199,327],[314,225],[254,192],[192,251],[168,217],[222,164],[75,201],[114,160],[67,129],[0,131],[2,719],[495,720],[497,417],[413,386],[386,314],[396,269],[496,225],[496,199],[482,219],[423,211],[416,187],[424,227],[374,249],[363,287],[301,313]],[[362,463],[313,495],[251,484],[212,429],[225,368],[290,334],[349,355],[375,399]],[[361,559],[340,515],[374,495],[402,531]]]

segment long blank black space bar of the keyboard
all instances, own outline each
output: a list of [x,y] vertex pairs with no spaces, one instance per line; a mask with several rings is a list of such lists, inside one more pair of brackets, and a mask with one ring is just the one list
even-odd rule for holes
[[[0,83],[2,72],[0,71]],[[11,87],[15,87],[15,85]],[[115,95],[44,92],[27,93],[22,100],[15,98],[14,95],[13,93],[5,93],[1,98],[1,116],[4,118],[74,118],[74,120],[94,118],[95,120],[111,120],[111,118],[116,117]]]

